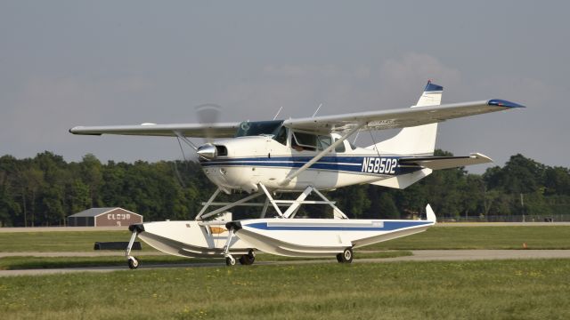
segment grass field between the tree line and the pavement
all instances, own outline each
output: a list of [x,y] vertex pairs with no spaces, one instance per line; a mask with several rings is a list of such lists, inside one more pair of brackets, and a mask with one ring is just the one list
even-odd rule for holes
[[[97,241],[128,241],[128,231],[0,233],[0,252],[90,252]],[[366,250],[421,249],[570,249],[569,226],[446,227],[386,243]],[[152,251],[142,243],[143,251]]]

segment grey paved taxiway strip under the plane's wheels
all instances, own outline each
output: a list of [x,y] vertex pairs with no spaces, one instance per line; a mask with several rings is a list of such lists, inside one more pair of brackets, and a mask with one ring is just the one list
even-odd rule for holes
[[[38,252],[41,253],[41,252]],[[45,252],[44,252],[45,253]],[[397,258],[355,259],[353,263],[389,263],[395,261],[437,261],[437,260],[512,260],[512,259],[570,259],[570,250],[416,250],[412,256]],[[354,252],[355,256],[358,252]],[[337,260],[293,260],[293,261],[259,261],[258,266],[299,265],[315,263],[338,263]],[[208,263],[188,263],[169,265],[141,265],[139,269],[157,268],[205,268],[225,267],[224,260]],[[247,267],[233,267],[247,268]],[[128,270],[125,266],[93,267],[93,268],[53,268],[32,270],[0,270],[0,276],[34,276],[76,272],[111,272]],[[137,272],[133,270],[131,272]]]

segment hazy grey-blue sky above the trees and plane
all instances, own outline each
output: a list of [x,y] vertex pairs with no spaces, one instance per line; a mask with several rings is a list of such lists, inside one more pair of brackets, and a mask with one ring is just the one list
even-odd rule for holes
[[203,103],[223,106],[223,121],[281,106],[281,118],[311,116],[320,103],[320,115],[407,108],[433,79],[444,102],[528,107],[441,124],[438,148],[570,166],[568,12],[564,1],[3,0],[0,156],[181,158],[174,138],[68,129],[191,123]]

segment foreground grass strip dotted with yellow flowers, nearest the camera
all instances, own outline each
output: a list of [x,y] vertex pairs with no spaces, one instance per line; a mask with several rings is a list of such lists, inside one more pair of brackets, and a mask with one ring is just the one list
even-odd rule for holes
[[169,268],[0,278],[3,319],[568,319],[568,260]]

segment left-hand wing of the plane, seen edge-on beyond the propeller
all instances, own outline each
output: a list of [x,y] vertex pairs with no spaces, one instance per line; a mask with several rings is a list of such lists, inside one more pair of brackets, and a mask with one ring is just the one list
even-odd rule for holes
[[179,132],[185,137],[232,138],[239,125],[240,123],[76,126],[69,129],[69,132],[86,135],[121,134],[162,137],[175,137],[175,132]]

